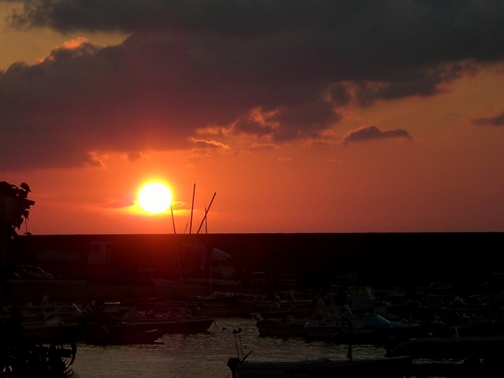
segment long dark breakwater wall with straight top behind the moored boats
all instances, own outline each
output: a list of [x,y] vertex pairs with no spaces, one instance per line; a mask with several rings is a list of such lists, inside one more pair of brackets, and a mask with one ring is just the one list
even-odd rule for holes
[[[155,271],[176,277],[177,259],[187,258],[182,246],[205,244],[230,253],[234,278],[244,283],[252,272],[265,272],[295,274],[304,287],[328,287],[330,276],[337,274],[357,274],[374,286],[418,286],[461,275],[477,279],[467,275],[499,273],[503,241],[502,232],[23,235],[10,245],[9,254],[15,266],[37,265],[55,278],[132,283]],[[110,247],[102,261],[90,257],[97,244]]]

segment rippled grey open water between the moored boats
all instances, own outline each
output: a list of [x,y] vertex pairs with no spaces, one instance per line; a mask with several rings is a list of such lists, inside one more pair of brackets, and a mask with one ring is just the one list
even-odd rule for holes
[[[346,346],[301,339],[259,337],[254,319],[218,319],[208,334],[165,335],[164,344],[87,346],[79,344],[73,370],[81,378],[230,378],[228,358],[237,356],[232,330],[241,328],[248,360],[346,359]],[[238,343],[239,345],[239,343]],[[382,357],[384,349],[353,347],[354,358]]]

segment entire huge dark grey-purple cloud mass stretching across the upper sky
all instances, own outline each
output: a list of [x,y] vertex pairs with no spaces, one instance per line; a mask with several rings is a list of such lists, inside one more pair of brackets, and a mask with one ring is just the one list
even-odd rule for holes
[[197,134],[211,127],[261,143],[316,138],[350,93],[365,106],[429,96],[504,57],[497,0],[20,3],[18,27],[131,35],[0,72],[0,169],[99,165],[93,151],[194,148],[190,138],[223,143],[224,134]]

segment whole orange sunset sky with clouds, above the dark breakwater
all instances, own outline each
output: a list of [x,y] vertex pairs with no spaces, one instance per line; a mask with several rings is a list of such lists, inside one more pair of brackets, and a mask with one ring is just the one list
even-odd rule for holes
[[504,1],[0,0],[0,132],[34,234],[504,231]]

